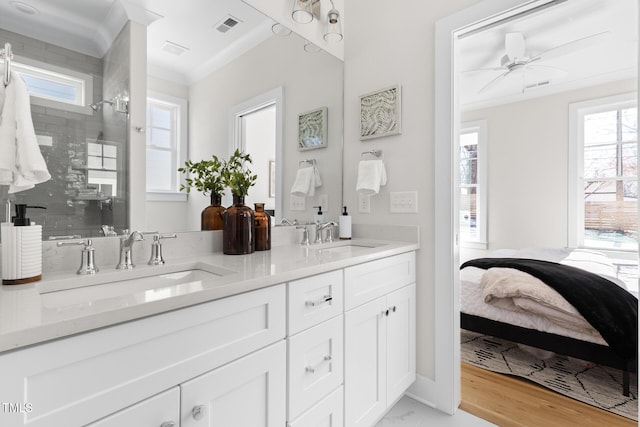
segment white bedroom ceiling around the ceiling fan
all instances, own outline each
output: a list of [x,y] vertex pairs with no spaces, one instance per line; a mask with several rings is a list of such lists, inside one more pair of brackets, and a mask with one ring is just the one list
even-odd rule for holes
[[[536,61],[539,69],[514,71],[483,93],[479,91],[505,70],[469,70],[500,67],[505,34],[524,34],[526,57],[556,46],[606,32],[597,43]],[[461,107],[477,109],[560,91],[593,86],[637,76],[637,0],[569,0],[539,13],[516,18],[460,40]],[[554,68],[546,68],[554,67]],[[548,83],[544,83],[547,82]],[[542,86],[525,89],[523,86]]]

